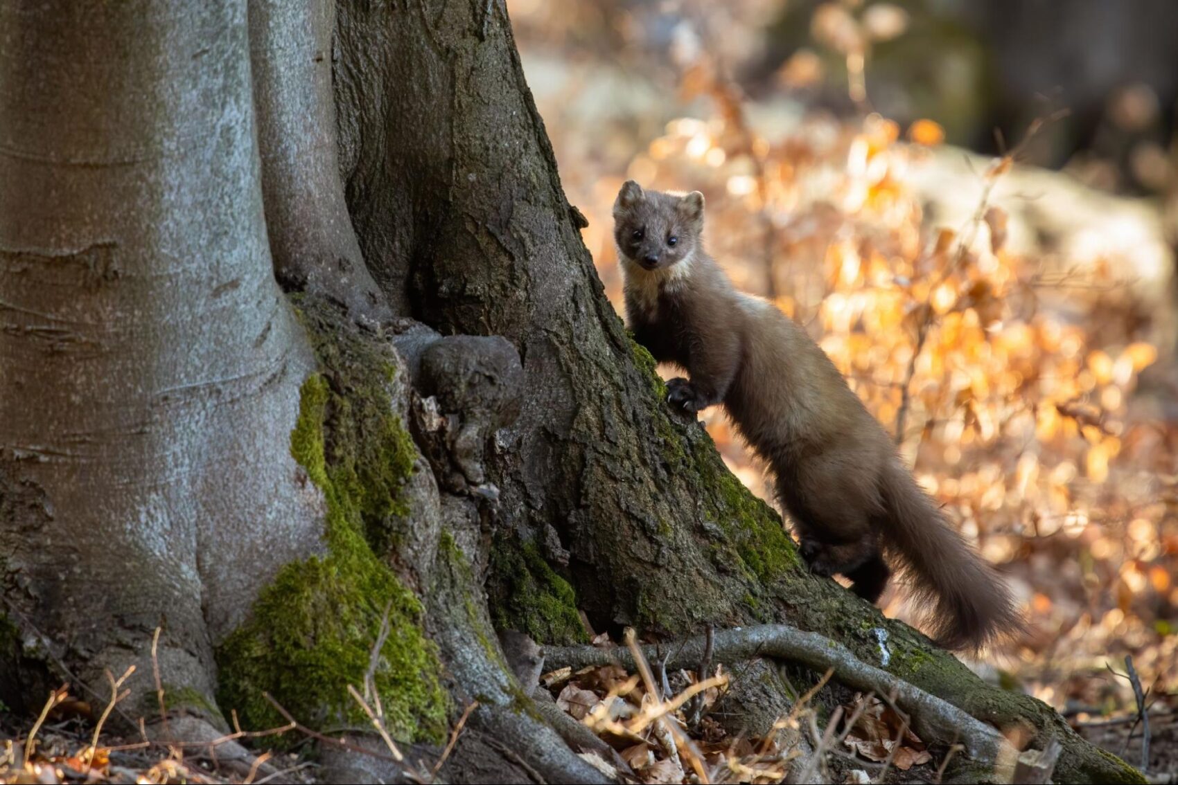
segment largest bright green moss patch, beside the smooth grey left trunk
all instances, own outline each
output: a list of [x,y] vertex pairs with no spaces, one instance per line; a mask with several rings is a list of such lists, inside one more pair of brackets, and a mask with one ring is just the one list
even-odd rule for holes
[[252,729],[283,721],[265,693],[309,725],[364,723],[348,686],[362,687],[388,608],[390,633],[375,680],[389,731],[437,741],[448,705],[421,605],[365,538],[372,517],[402,504],[412,446],[386,395],[376,403],[375,421],[357,419],[363,405],[324,375],[303,385],[291,453],[324,493],[326,554],[283,567],[258,596],[251,620],[218,648],[218,700]]

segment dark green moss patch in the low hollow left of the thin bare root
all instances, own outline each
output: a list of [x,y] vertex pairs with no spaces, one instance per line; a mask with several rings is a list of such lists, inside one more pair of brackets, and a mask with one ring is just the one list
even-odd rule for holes
[[492,611],[496,627],[518,630],[545,644],[588,643],[573,586],[548,566],[534,544],[496,538],[491,572],[499,584]]

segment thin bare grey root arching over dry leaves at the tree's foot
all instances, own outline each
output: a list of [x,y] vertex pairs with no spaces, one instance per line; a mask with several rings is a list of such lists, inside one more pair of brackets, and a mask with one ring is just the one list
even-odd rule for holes
[[[682,641],[667,660],[670,668],[693,668],[700,661],[707,641],[697,636]],[[666,651],[667,644],[661,645]],[[661,659],[657,646],[643,646],[648,659]],[[1017,756],[1014,749],[994,727],[971,717],[953,704],[932,696],[858,659],[846,646],[814,632],[803,632],[783,624],[716,632],[713,659],[737,663],[757,657],[772,657],[805,665],[814,671],[834,670],[842,684],[861,692],[874,691],[891,698],[896,706],[912,716],[913,730],[925,740],[962,744],[978,763],[994,764],[1000,758]],[[594,648],[591,646],[545,647],[548,667],[573,668],[617,663],[634,668],[634,658],[626,648]]]

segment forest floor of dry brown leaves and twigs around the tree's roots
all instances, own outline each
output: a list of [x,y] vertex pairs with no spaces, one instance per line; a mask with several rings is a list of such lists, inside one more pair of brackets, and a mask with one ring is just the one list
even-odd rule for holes
[[[605,640],[598,644],[610,645]],[[649,667],[644,670],[654,674]],[[723,700],[732,674],[716,668],[703,680],[699,676],[659,673],[654,679],[662,681],[660,687],[616,665],[577,672],[562,668],[543,676],[536,697],[543,699],[540,691],[547,691],[557,706],[614,750],[609,761],[604,758],[610,756],[594,756],[603,773],[621,773],[651,785],[777,783],[787,773],[792,781],[939,783],[954,754],[952,749],[926,745],[907,729],[889,700],[874,696],[848,696],[829,716],[829,730],[823,731],[819,711],[809,703],[819,688],[801,696],[767,737],[748,738],[735,731],[726,712]],[[659,694],[664,688],[666,694]],[[1152,783],[1178,783],[1178,706],[1154,703],[1149,714],[1150,752],[1144,771]],[[1090,741],[1140,765],[1145,737],[1138,714],[1071,720]],[[461,732],[459,725],[452,734],[459,745]],[[95,734],[90,706],[65,701],[31,727],[9,727],[0,714],[0,783],[324,781],[318,779],[310,736],[287,731],[283,738],[286,751],[279,753],[267,752],[267,739],[258,739],[253,744],[256,758],[227,761],[223,745],[233,738],[226,734],[207,746],[179,749],[151,744],[143,736]],[[432,781],[430,772],[437,771],[448,752],[415,749],[424,760],[405,781]],[[999,781],[1030,781],[1015,774],[1014,765],[999,765]],[[441,771],[444,780],[445,769]]]

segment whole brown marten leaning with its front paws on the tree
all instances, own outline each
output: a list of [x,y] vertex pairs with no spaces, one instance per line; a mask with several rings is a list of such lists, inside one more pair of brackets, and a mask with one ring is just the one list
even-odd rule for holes
[[977,650],[1021,626],[993,568],[949,528],[892,440],[830,358],[770,302],[733,288],[703,250],[703,194],[627,181],[614,238],[635,340],[687,371],[668,401],[695,413],[723,404],[768,464],[802,558],[842,574],[874,603],[902,571],[922,624],[948,648]]

